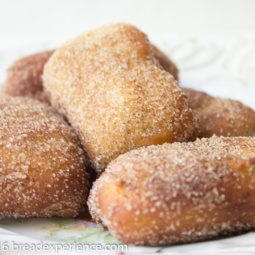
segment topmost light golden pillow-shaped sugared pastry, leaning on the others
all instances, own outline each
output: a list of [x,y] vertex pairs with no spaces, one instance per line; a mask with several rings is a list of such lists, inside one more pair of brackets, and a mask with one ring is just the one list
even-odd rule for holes
[[45,65],[43,81],[99,173],[131,149],[187,141],[197,131],[186,94],[131,25],[105,26],[67,42]]

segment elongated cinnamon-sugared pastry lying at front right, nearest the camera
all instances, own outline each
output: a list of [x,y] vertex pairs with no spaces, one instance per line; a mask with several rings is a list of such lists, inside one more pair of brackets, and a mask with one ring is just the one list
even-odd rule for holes
[[255,138],[143,147],[112,161],[88,204],[133,245],[199,241],[255,227]]

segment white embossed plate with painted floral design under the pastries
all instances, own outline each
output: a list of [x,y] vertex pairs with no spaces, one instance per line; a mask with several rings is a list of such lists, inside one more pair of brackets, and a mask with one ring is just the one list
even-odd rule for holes
[[[180,84],[182,86],[203,90],[215,96],[238,99],[255,109],[255,39],[161,35],[153,37],[152,41],[171,56],[177,64],[180,69]],[[6,68],[13,60],[30,53],[54,48],[56,45],[58,43],[45,43],[14,51],[0,51],[0,84],[5,79]],[[103,246],[118,243],[107,230],[85,220],[60,218],[0,220],[0,248],[7,250],[8,254],[15,251],[17,243],[40,244],[41,241],[44,244],[77,242],[100,243]],[[20,248],[19,254],[22,254],[22,251],[27,254],[24,247],[23,250]],[[207,253],[208,255],[254,254],[255,233],[250,232],[230,238],[169,247],[128,247],[124,254],[153,254],[156,252],[167,254]],[[51,253],[55,254],[53,250]],[[84,254],[84,251],[60,251],[60,254],[72,253]],[[86,254],[90,253],[93,252],[86,251]],[[121,254],[120,251],[104,251],[103,253]]]

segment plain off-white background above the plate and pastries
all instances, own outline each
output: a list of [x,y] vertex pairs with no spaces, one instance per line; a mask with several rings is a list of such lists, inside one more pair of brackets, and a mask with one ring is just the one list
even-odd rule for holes
[[149,34],[255,34],[254,0],[0,0],[0,50],[127,22]]

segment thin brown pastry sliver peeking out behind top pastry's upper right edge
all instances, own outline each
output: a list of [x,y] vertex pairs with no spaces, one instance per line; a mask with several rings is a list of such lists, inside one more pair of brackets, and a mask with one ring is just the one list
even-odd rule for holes
[[159,64],[164,68],[164,70],[172,74],[175,80],[178,81],[179,70],[177,66],[170,60],[170,58],[165,53],[160,51],[155,45],[151,45],[151,48],[153,55],[159,61]]

